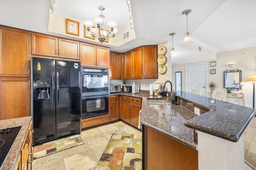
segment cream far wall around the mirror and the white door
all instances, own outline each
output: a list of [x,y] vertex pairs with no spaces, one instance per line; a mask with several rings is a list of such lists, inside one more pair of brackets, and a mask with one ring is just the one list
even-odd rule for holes
[[[248,51],[248,55],[242,56],[242,51]],[[208,62],[208,85],[210,82],[216,84],[216,88],[223,87],[223,72],[225,70],[239,69],[242,70],[242,81],[245,83],[243,86],[243,93],[245,94],[245,104],[244,106],[252,107],[252,84],[251,82],[246,82],[245,80],[256,72],[256,47],[250,47],[246,49],[238,49],[233,51],[226,51],[222,53],[217,53],[217,66],[210,67]],[[203,61],[202,61],[203,62]],[[228,66],[228,64],[236,64],[234,67]],[[210,68],[216,68],[217,74],[209,74]],[[175,72],[182,71],[182,90],[186,90],[186,64],[173,65],[172,66],[172,82],[175,84]],[[209,88],[207,85],[207,88]],[[174,86],[175,89],[175,86]],[[240,93],[241,91],[238,91]],[[237,92],[236,92],[237,93]],[[208,96],[210,96],[210,90],[208,90]]]

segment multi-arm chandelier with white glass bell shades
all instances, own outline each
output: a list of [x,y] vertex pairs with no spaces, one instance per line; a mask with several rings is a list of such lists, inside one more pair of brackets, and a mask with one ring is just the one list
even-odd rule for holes
[[[94,22],[90,20],[85,20],[84,25],[86,26],[87,31],[91,34],[92,37],[98,39],[101,43],[105,40],[110,39],[111,37],[115,37],[116,32],[118,31],[116,27],[116,21],[108,21],[109,29],[104,28],[104,18],[105,16],[102,14],[102,11],[105,10],[104,6],[99,6],[99,10],[101,11],[100,15],[94,18]],[[96,24],[96,27],[92,28],[92,26]]]

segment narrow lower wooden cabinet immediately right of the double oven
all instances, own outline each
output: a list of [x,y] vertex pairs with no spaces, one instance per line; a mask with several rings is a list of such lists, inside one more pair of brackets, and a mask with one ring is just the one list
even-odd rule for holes
[[110,121],[119,119],[119,96],[110,96],[110,107],[109,107]]

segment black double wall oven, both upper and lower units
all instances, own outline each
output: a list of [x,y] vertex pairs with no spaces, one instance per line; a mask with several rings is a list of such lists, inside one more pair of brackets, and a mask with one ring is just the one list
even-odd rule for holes
[[108,68],[81,69],[82,119],[108,114]]

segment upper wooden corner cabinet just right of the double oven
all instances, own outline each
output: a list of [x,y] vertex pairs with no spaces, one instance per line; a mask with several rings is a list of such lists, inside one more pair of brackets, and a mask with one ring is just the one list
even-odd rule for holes
[[110,51],[109,78],[121,79],[121,59],[122,54]]

